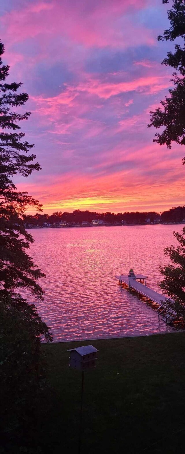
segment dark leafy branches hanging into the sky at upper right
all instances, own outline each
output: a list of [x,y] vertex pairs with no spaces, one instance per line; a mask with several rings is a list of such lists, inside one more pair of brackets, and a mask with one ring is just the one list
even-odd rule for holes
[[[163,3],[169,2],[163,0]],[[161,107],[150,112],[151,120],[148,127],[154,126],[157,129],[162,127],[162,131],[155,134],[153,141],[171,148],[172,142],[185,145],[185,0],[173,0],[171,10],[168,10],[167,14],[171,26],[157,39],[174,41],[180,38],[183,41],[183,45],[176,44],[175,52],[168,52],[162,61],[162,64],[171,66],[179,74],[173,73],[171,82],[174,88],[169,90],[170,96],[161,101]]]

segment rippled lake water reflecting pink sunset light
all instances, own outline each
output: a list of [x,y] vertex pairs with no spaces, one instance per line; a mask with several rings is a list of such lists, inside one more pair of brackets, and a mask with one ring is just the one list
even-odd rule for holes
[[[38,312],[51,326],[54,341],[139,336],[166,331],[157,312],[121,289],[116,274],[148,276],[160,291],[164,247],[176,244],[182,225],[33,229],[30,255],[46,274],[45,300]],[[33,300],[30,300],[35,302]],[[173,328],[168,327],[168,331]]]

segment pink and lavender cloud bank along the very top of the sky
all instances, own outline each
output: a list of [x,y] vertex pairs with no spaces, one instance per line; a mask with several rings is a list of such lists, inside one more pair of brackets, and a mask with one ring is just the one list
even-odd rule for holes
[[[12,10],[2,17],[7,43],[16,43],[27,38],[62,36],[83,46],[124,48],[133,44],[155,44],[151,30],[132,24],[132,15],[125,16],[143,7],[146,1],[99,2],[84,11],[84,3],[62,3],[55,0],[35,2],[21,10]],[[84,14],[85,13],[85,14]]]

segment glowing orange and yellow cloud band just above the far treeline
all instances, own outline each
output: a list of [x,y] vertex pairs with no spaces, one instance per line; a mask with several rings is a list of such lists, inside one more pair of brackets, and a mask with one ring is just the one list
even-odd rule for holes
[[[147,179],[141,166],[141,171],[137,172],[137,178],[135,171],[127,169],[119,170],[116,178],[115,174],[99,174],[89,178],[85,174],[67,173],[66,176],[55,178],[55,180],[48,177],[47,186],[45,186],[45,179],[43,181],[40,179],[40,183],[29,183],[29,186],[26,185],[25,188],[35,197],[39,197],[43,202],[45,212],[55,209],[72,211],[76,207],[98,209],[98,211],[108,211],[109,207],[113,207],[113,210],[118,212],[133,207],[137,210],[145,210],[147,206],[152,209],[156,207],[160,211],[161,208],[170,207],[173,202],[175,204],[176,202],[183,203],[182,188],[185,189],[183,169],[176,166],[174,175],[173,164],[174,166],[177,164],[177,159],[174,159],[173,164],[167,163],[166,156],[167,167],[164,164],[160,165],[159,156],[156,162],[154,147],[151,150],[148,150],[147,147],[138,150],[137,153],[134,153],[134,158],[142,158],[149,170],[151,167],[148,164],[151,163],[152,158],[154,159],[154,168],[152,173],[148,174]],[[159,171],[161,171],[160,178],[157,179],[156,175]],[[169,180],[167,186],[166,178]],[[24,185],[22,189],[24,189]]]

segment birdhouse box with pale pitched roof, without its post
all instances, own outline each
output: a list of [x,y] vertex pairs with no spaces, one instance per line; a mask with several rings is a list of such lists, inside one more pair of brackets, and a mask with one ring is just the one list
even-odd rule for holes
[[71,348],[70,364],[73,369],[85,370],[96,366],[97,349],[93,345]]

